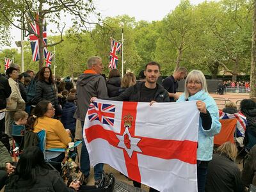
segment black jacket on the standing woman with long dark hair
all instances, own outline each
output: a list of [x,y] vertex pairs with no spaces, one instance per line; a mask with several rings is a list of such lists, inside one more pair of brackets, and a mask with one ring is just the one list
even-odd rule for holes
[[45,81],[38,81],[36,84],[35,102],[36,104],[41,100],[49,100],[56,108],[58,106],[58,99],[56,88],[54,84]]

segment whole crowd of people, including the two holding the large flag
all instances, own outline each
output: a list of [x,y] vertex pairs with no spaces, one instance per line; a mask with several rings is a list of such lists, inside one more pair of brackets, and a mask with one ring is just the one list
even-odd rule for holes
[[[248,125],[241,132],[243,143],[250,153],[246,159],[244,170],[240,173],[234,160],[237,148],[233,143],[223,143],[216,153],[213,151],[213,138],[221,130],[219,109],[207,91],[207,82],[200,70],[177,68],[164,79],[163,86],[157,83],[161,66],[154,61],[147,63],[139,78],[132,72],[121,77],[117,69],[110,70],[108,79],[102,76],[101,58],[93,56],[88,59],[87,69],[77,78],[76,88],[66,77],[54,78],[50,67],[42,67],[36,74],[27,70],[20,74],[19,66],[11,65],[4,76],[0,75],[0,132],[15,139],[14,132],[24,130],[24,143],[19,145],[23,153],[18,164],[12,163],[8,150],[0,142],[0,189],[6,184],[6,191],[17,189],[51,188],[52,191],[104,191],[97,189],[102,182],[104,164],[94,167],[95,186],[84,188],[90,174],[88,150],[82,140],[80,166],[84,175],[83,182],[72,182],[65,186],[60,175],[50,170],[44,161],[42,151],[35,147],[35,133],[45,130],[46,148],[67,148],[74,138],[82,138],[86,112],[93,100],[105,99],[116,101],[148,102],[186,102],[197,100],[196,107],[200,111],[197,149],[197,182],[198,191],[244,191],[250,184],[256,185],[256,104],[248,99],[241,102],[240,112],[246,116]],[[184,93],[177,94],[179,80],[185,79]],[[162,82],[161,82],[162,83]],[[228,84],[224,82],[225,86]],[[230,84],[231,86],[231,84]],[[249,86],[248,86],[249,88]],[[233,109],[230,109],[233,108]],[[236,106],[226,106],[225,113],[237,113]],[[225,111],[226,110],[226,111]],[[21,128],[20,128],[21,127]],[[237,127],[238,131],[242,130]],[[82,129],[83,130],[83,129]],[[28,141],[29,138],[29,142]],[[253,142],[254,147],[253,147]],[[46,158],[61,162],[64,152],[47,152]],[[218,168],[216,168],[218,167]],[[60,171],[60,164],[55,166]],[[133,181],[136,188],[140,182]],[[128,187],[127,187],[128,188]],[[132,188],[131,188],[132,190]],[[150,188],[149,191],[157,191]]]

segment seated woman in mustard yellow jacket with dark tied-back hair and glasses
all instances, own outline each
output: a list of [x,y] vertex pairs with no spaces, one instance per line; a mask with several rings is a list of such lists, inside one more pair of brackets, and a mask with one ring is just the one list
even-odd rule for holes
[[[71,142],[69,129],[65,130],[59,120],[52,118],[55,109],[49,100],[42,100],[36,104],[33,115],[28,118],[26,128],[28,130],[39,132],[42,129],[46,132],[46,149],[47,148],[67,148]],[[64,152],[46,152],[47,159],[61,162]],[[60,170],[60,166],[57,167]]]

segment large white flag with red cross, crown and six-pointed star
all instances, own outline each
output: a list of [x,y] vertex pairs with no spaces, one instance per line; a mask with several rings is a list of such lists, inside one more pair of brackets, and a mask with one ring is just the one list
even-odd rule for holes
[[106,163],[158,191],[197,191],[199,111],[183,103],[95,100],[83,136],[92,166]]

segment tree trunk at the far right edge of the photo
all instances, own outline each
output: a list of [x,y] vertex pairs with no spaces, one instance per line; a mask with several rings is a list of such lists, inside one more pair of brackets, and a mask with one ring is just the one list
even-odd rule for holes
[[254,0],[253,12],[253,30],[252,30],[252,63],[251,63],[251,77],[250,77],[250,97],[256,97],[256,0]]

